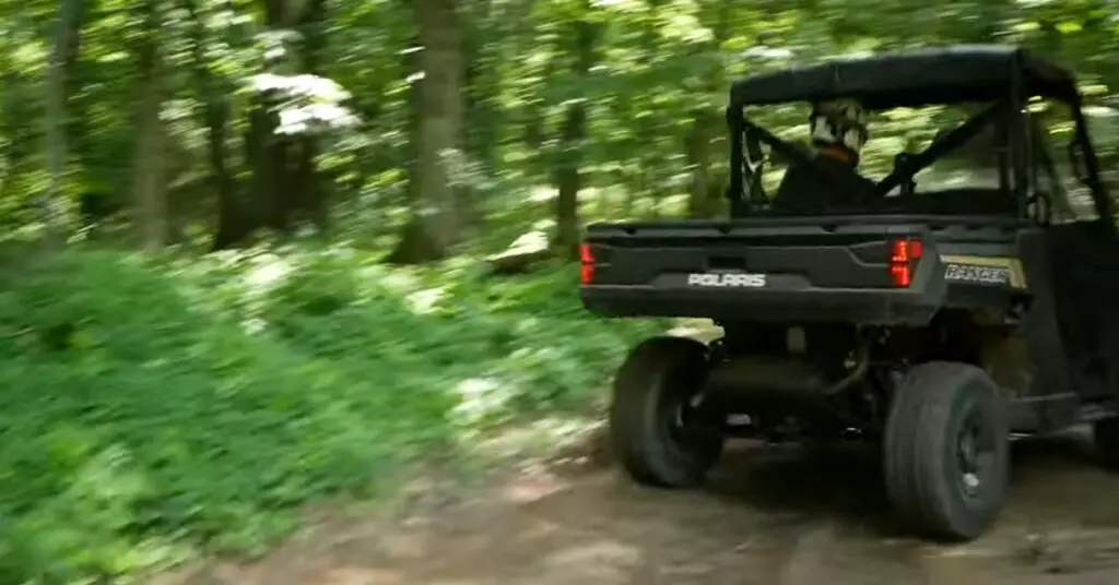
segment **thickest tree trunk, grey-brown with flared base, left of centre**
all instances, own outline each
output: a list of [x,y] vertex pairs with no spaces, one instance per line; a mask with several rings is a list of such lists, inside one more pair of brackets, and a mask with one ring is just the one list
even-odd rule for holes
[[416,264],[451,254],[459,242],[451,163],[462,136],[462,31],[454,0],[414,0],[423,50],[417,82],[416,161],[410,170],[412,219],[388,261]]

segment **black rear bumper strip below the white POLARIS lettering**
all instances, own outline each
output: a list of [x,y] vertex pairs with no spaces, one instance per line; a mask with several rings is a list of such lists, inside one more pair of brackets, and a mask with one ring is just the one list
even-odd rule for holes
[[[931,284],[931,283],[930,283]],[[944,295],[941,286],[919,290],[828,289],[805,291],[711,291],[653,286],[587,285],[583,305],[603,317],[693,317],[759,322],[929,322]]]

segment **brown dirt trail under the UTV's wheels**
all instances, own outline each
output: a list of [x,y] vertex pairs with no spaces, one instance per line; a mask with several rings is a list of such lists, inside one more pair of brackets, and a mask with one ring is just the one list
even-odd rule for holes
[[189,585],[1119,584],[1119,474],[1082,438],[1016,446],[1009,509],[980,541],[891,525],[874,457],[739,445],[711,485],[641,489],[603,465],[526,469],[422,517],[341,522]]

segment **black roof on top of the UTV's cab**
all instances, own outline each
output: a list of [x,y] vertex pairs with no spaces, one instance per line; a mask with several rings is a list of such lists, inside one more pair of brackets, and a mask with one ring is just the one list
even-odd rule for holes
[[1076,84],[1063,67],[1012,45],[953,45],[763,73],[735,82],[731,105],[857,97],[881,110],[989,101],[1007,95],[1016,74],[1023,89],[1074,101]]

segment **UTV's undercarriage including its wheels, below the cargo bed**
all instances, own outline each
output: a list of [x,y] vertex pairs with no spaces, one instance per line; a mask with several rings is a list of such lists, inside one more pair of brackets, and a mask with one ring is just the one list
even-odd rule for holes
[[[638,481],[695,485],[731,437],[855,440],[878,446],[891,499],[921,534],[976,538],[1004,506],[1013,406],[1037,408],[1028,364],[1006,357],[1013,321],[946,311],[924,328],[721,324],[711,343],[647,340],[619,371],[611,430]],[[1101,450],[1119,445],[1115,421],[1097,424]]]

